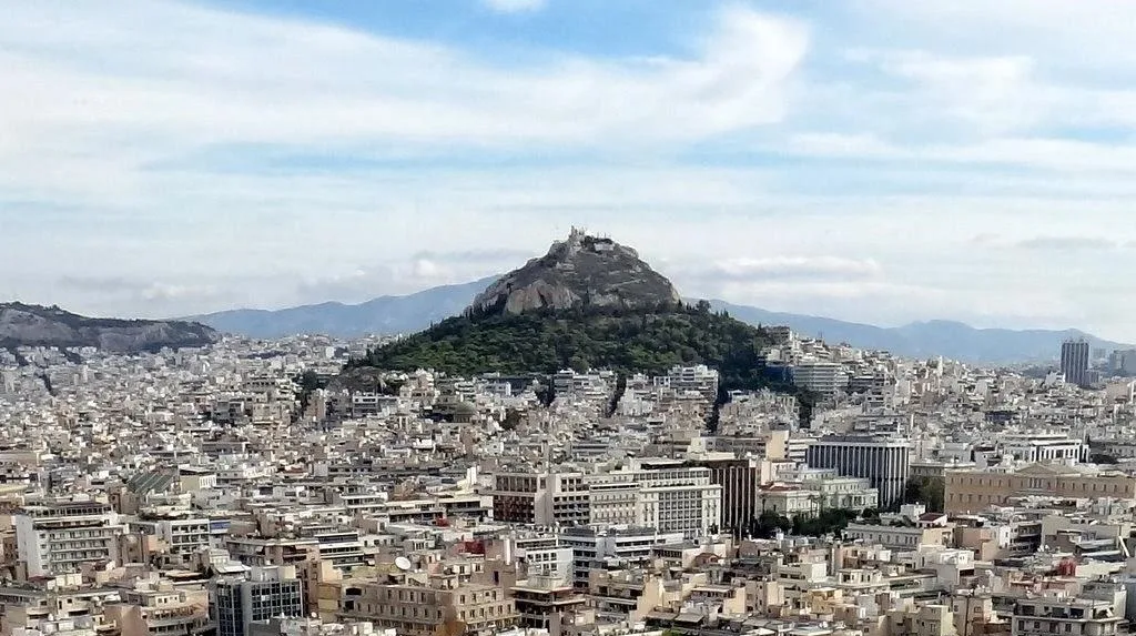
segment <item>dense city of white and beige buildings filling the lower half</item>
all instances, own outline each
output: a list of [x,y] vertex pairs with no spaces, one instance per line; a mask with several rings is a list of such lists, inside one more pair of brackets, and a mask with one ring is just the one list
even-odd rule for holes
[[1136,353],[1026,373],[778,332],[801,391],[718,407],[705,366],[301,386],[379,338],[0,350],[0,629],[1128,633]]

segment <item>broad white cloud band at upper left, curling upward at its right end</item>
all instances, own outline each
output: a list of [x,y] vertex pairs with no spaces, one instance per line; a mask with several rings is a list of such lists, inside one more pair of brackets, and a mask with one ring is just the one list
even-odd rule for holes
[[210,147],[621,151],[770,125],[809,45],[801,23],[741,6],[688,57],[533,61],[165,1],[9,9],[0,189],[119,202],[147,167]]

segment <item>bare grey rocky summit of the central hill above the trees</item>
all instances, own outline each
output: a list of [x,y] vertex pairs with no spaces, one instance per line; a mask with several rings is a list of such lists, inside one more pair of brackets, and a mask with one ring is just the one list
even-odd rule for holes
[[670,281],[640,260],[635,250],[574,228],[548,254],[490,285],[474,299],[471,309],[506,313],[576,307],[636,309],[680,300]]

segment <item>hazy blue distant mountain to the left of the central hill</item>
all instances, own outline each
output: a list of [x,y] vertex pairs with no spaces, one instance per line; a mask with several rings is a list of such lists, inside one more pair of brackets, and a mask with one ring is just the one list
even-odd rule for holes
[[460,313],[470,299],[496,276],[432,287],[404,296],[379,296],[360,304],[324,302],[279,310],[235,309],[194,316],[197,320],[228,334],[277,338],[296,334],[359,337],[368,334],[401,334],[425,329]]

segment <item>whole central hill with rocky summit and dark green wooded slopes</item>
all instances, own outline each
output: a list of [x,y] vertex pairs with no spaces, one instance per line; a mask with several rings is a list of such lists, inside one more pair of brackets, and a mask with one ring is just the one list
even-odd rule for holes
[[[594,250],[593,241],[574,229],[546,257],[492,284],[461,316],[353,360],[344,379],[354,382],[366,369],[420,368],[461,376],[607,368],[626,377],[704,363],[718,369],[720,399],[760,387],[801,393],[766,377],[769,332],[716,313],[707,302],[683,303],[634,250],[607,240]],[[590,252],[586,273],[582,252]]]

